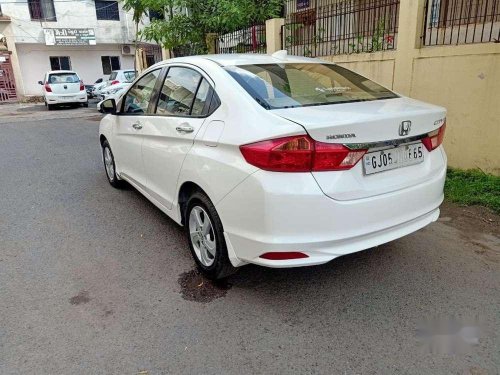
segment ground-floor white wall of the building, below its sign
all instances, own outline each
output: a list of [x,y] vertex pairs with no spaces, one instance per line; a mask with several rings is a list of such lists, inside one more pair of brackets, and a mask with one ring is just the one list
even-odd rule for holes
[[94,83],[98,78],[108,78],[102,71],[101,56],[119,56],[122,69],[134,68],[134,56],[122,55],[120,44],[79,47],[19,44],[17,55],[23,75],[24,95],[41,95],[42,89],[38,81],[51,70],[50,56],[69,56],[71,68],[85,84]]

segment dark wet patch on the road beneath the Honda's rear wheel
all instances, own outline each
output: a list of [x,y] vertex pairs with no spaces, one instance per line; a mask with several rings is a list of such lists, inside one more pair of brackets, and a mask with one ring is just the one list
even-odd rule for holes
[[231,289],[231,284],[226,280],[208,280],[198,270],[184,272],[179,276],[182,298],[194,302],[212,302],[224,297]]

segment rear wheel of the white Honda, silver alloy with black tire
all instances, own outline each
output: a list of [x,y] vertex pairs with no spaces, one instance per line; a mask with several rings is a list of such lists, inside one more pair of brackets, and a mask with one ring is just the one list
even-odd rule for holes
[[215,206],[202,192],[189,198],[184,226],[191,255],[198,269],[211,280],[220,280],[237,271],[227,253],[224,229]]

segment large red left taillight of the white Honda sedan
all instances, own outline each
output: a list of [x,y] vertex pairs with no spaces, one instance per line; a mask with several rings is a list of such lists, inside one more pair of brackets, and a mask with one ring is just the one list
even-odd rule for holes
[[351,169],[367,150],[316,142],[307,135],[271,139],[240,146],[245,160],[273,172],[319,172]]

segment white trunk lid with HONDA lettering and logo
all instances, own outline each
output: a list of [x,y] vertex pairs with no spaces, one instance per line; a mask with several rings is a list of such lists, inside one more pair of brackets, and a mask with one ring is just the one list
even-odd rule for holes
[[[421,143],[420,138],[438,129],[446,115],[444,108],[409,98],[286,108],[272,113],[301,125],[318,142],[367,148],[368,152]],[[406,130],[401,135],[403,123]],[[428,152],[422,147],[422,152],[423,162],[374,174],[366,174],[363,159],[349,170],[312,173],[323,192],[333,199],[367,198],[413,186],[438,174],[444,162],[441,151]]]

